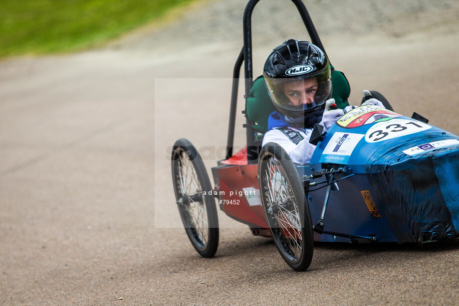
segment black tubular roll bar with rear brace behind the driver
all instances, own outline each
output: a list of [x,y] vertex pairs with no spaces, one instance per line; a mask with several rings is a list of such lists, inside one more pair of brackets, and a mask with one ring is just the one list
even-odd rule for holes
[[[252,29],[251,29],[251,16],[255,4],[260,0],[249,0],[245,6],[244,16],[243,16],[243,35],[244,35],[244,45],[242,50],[237,57],[236,64],[234,65],[233,76],[232,76],[232,89],[231,89],[231,104],[230,104],[230,123],[228,127],[228,140],[227,140],[227,156],[226,159],[232,156],[232,148],[234,144],[234,125],[236,119],[236,106],[237,106],[237,92],[239,87],[239,72],[242,62],[244,62],[244,76],[245,76],[245,108],[242,112],[245,114],[245,125],[246,128],[246,140],[247,148],[253,147],[255,138],[254,130],[252,128],[252,123],[249,122],[247,117],[247,98],[250,93],[250,89],[253,85],[253,71],[252,71]],[[318,46],[326,55],[325,49],[320,41],[319,35],[312,23],[311,17],[306,9],[306,6],[301,0],[291,0],[298,9],[301,19],[306,27],[306,30],[311,38],[311,42]],[[256,159],[247,158],[248,163],[256,163]]]

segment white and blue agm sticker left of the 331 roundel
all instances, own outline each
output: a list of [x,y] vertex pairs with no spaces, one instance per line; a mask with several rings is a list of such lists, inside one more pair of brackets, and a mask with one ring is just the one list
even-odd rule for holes
[[320,162],[347,162],[363,134],[335,132],[325,147]]

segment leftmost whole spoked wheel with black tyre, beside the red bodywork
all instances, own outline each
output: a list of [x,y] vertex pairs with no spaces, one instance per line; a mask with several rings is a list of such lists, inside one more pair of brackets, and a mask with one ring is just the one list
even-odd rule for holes
[[[181,138],[172,149],[172,181],[185,231],[202,257],[212,257],[219,245],[219,220],[204,162],[196,148]],[[204,192],[207,192],[204,195]]]

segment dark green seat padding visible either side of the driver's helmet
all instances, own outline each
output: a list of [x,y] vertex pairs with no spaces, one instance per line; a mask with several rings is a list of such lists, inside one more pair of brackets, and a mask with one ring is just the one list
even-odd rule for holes
[[[344,74],[332,70],[332,98],[335,99],[338,108],[345,108],[349,105],[347,99],[351,94],[351,88]],[[247,98],[245,111],[252,128],[259,133],[266,133],[268,129],[268,117],[276,109],[269,97],[263,77],[258,77],[254,82]]]

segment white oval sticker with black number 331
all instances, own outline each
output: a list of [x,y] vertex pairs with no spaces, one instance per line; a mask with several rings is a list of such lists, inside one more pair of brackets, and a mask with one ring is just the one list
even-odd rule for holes
[[377,123],[368,129],[365,134],[367,143],[377,143],[385,140],[394,139],[422,131],[426,131],[432,126],[407,119],[392,119],[389,121]]

